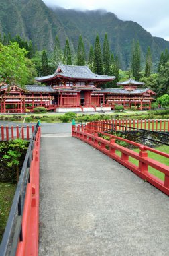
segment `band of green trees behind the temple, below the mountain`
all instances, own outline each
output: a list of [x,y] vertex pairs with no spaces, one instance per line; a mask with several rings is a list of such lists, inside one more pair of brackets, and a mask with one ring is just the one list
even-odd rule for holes
[[[66,38],[64,49],[60,47],[60,40],[58,36],[55,38],[54,50],[52,53],[37,51],[36,46],[32,45],[32,41],[24,40],[19,35],[11,38],[0,34],[0,44],[2,46],[10,46],[16,42],[20,49],[25,49],[25,58],[27,59],[27,68],[30,70],[28,81],[33,83],[33,75],[50,75],[56,71],[58,63],[67,65],[88,65],[93,73],[100,75],[115,76],[113,82],[105,84],[105,87],[117,87],[117,82],[129,79],[130,77],[140,80],[145,83],[145,87],[152,88],[158,95],[169,93],[169,54],[168,49],[161,53],[158,70],[152,73],[152,53],[150,47],[147,49],[144,68],[141,63],[141,47],[139,41],[133,40],[131,45],[131,65],[127,71],[120,69],[118,56],[115,56],[109,48],[109,40],[107,34],[103,41],[101,48],[100,38],[97,34],[95,44],[90,46],[89,53],[87,53],[82,35],[78,39],[78,47],[76,53],[72,53],[68,38]],[[5,65],[4,65],[5,67]],[[2,67],[3,69],[3,67]],[[1,75],[1,74],[0,74]]]

